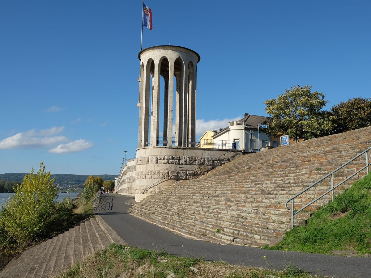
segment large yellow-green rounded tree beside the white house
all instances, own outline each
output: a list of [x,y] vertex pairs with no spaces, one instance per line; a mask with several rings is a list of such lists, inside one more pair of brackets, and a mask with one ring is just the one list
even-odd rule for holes
[[270,135],[289,135],[299,142],[330,134],[332,123],[321,110],[328,101],[323,93],[312,92],[311,88],[308,85],[291,87],[276,99],[264,102],[266,112],[272,117],[267,129]]

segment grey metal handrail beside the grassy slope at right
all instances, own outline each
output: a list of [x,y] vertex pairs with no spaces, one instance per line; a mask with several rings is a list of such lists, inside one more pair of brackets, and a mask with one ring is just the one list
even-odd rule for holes
[[[335,169],[334,171],[332,171],[331,173],[327,174],[326,176],[324,176],[323,178],[319,179],[318,181],[312,183],[312,185],[309,185],[307,188],[305,188],[304,190],[302,190],[301,192],[299,192],[298,194],[296,194],[295,196],[289,198],[286,203],[285,203],[285,208],[290,210],[290,208],[288,207],[288,203],[291,201],[291,228],[294,227],[294,215],[298,214],[299,212],[301,212],[303,209],[307,208],[308,206],[312,205],[314,202],[318,201],[319,199],[321,199],[323,196],[325,196],[326,194],[328,194],[329,192],[331,192],[331,199],[332,201],[334,201],[334,189],[337,188],[338,186],[342,185],[344,182],[348,181],[349,179],[351,179],[352,177],[354,177],[355,175],[357,175],[359,172],[363,171],[364,169],[367,168],[367,174],[369,173],[369,168],[370,168],[370,165],[371,163],[368,162],[368,151],[371,150],[371,147],[368,148],[367,150],[364,150],[363,152],[359,153],[358,155],[356,155],[354,158],[352,158],[351,160],[349,160],[348,162],[344,163],[343,165],[341,165],[339,168]],[[359,169],[358,171],[354,172],[352,175],[348,176],[346,179],[344,179],[344,181],[341,181],[340,183],[338,183],[337,185],[334,186],[334,173],[337,172],[338,170],[340,170],[341,168],[343,168],[344,166],[347,166],[349,163],[351,163],[353,160],[355,160],[356,158],[359,158],[359,156],[363,155],[364,153],[366,153],[366,165],[363,166],[361,169]],[[312,200],[311,202],[309,202],[308,204],[306,204],[305,206],[303,206],[301,209],[298,209],[297,211],[294,212],[294,199],[298,196],[300,196],[302,193],[306,192],[308,189],[312,188],[313,186],[315,186],[317,183],[323,181],[324,179],[328,178],[329,176],[331,176],[331,189],[329,189],[328,191],[326,191],[325,193],[323,193],[321,196],[315,198],[314,200]]]

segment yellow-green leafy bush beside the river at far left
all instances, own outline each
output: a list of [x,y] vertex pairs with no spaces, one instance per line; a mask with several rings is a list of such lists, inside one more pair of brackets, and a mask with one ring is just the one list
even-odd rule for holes
[[19,186],[13,186],[14,195],[2,206],[0,229],[10,241],[31,242],[45,232],[50,217],[55,212],[57,189],[40,163],[37,173],[32,168]]

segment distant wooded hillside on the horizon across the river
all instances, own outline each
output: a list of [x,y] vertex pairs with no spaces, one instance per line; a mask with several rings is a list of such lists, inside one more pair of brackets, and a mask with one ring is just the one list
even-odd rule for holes
[[[23,181],[24,175],[26,173],[5,173],[0,174],[0,179],[4,181]],[[59,185],[69,185],[69,184],[79,184],[83,185],[89,175],[72,175],[72,174],[55,174],[52,178]],[[96,177],[101,177],[104,181],[111,180],[114,181],[117,175],[93,175]]]

